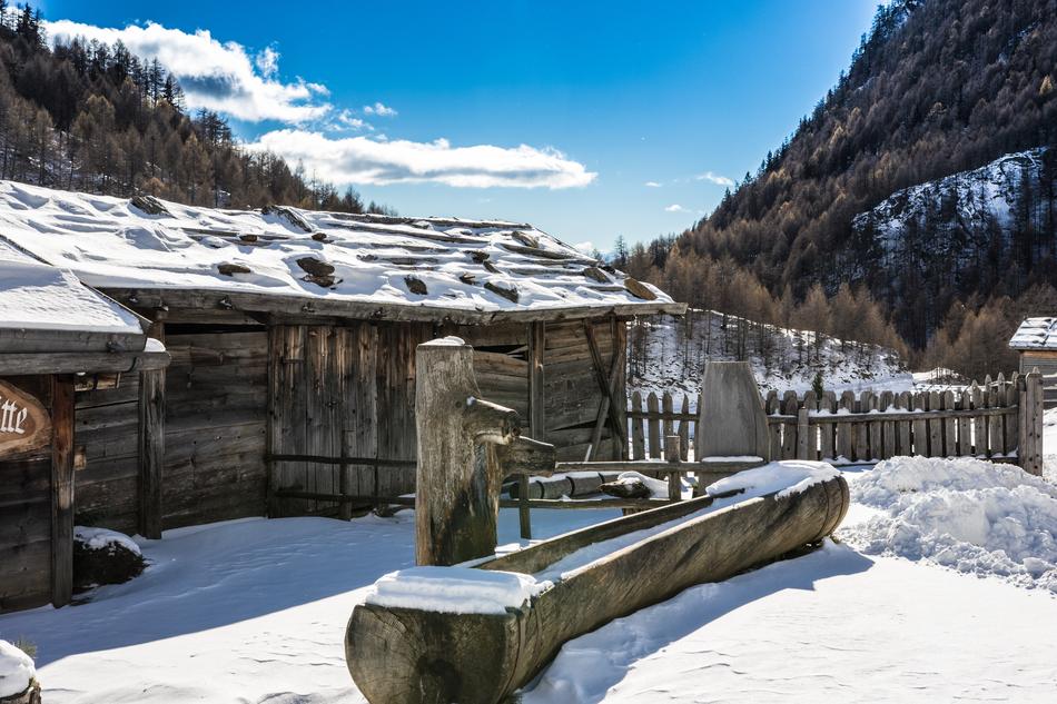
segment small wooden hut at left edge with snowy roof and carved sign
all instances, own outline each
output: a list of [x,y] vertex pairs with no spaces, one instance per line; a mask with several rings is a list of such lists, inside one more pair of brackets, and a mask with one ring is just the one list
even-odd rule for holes
[[[165,366],[146,325],[69,271],[0,242],[0,612],[70,601],[86,459],[75,426],[90,415],[75,405],[136,398],[139,374]],[[149,453],[138,438],[150,437],[134,432],[131,452]]]

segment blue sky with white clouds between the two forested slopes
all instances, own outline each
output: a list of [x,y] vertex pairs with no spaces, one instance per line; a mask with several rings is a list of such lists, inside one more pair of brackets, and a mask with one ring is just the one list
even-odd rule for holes
[[239,138],[365,199],[526,220],[602,249],[709,212],[833,85],[876,8],[39,4],[52,36],[120,37],[159,56],[189,103],[219,108]]

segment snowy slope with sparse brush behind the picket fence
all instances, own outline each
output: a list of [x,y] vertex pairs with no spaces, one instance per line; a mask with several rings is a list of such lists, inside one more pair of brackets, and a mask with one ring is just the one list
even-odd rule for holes
[[[722,329],[722,314],[695,311],[690,334],[688,319],[652,316],[639,328],[629,329],[629,359],[631,375],[628,390],[650,391],[658,395],[671,391],[675,396],[691,394],[691,403],[701,388],[701,376],[710,360],[734,360],[737,326],[741,318],[728,316],[728,329]],[[787,389],[806,391],[812,387],[814,375],[822,373],[822,386],[840,394],[843,390],[906,391],[913,387],[913,376],[896,351],[875,345],[859,346],[840,340],[822,340],[819,363],[813,361],[813,334],[803,330],[771,328],[773,349],[764,359],[753,351],[751,331],[748,361],[757,384],[764,391]],[[727,340],[724,344],[724,339]]]

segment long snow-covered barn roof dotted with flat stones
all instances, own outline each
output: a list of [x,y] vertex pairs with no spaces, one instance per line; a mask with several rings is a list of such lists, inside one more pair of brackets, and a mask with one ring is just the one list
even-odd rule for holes
[[481,317],[682,308],[530,225],[498,220],[226,210],[0,181],[0,238],[105,290],[294,297],[336,315],[346,303],[371,304],[377,317],[391,307]]

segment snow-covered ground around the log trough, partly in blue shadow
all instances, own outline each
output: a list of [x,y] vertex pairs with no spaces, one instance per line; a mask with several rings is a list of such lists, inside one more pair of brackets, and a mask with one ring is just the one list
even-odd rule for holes
[[[1049,452],[1054,412],[1046,430]],[[1051,476],[1054,459],[1050,452]],[[1018,532],[999,522],[1001,542],[987,543],[990,531],[980,541],[964,529],[962,514],[921,507],[1001,495],[1010,516],[1045,517],[1057,499],[1028,480],[1035,494],[1017,506],[1008,482],[1016,475],[1004,474],[1014,469],[929,464],[937,462],[899,459],[846,475],[856,503],[841,543],[692,587],[570,642],[522,692],[523,704],[1054,701],[1057,596],[1040,576],[1029,583],[986,561],[959,572],[939,564],[936,551],[900,551],[902,543],[883,538],[901,522],[921,535],[947,534],[959,549],[1000,547],[1027,566],[1026,551],[1046,559],[1053,524],[1039,518]],[[898,495],[895,504],[881,505],[886,492]],[[554,535],[613,515],[537,510],[533,527]],[[412,565],[413,524],[402,512],[168,532],[140,542],[151,561],[141,577],[99,588],[85,605],[0,616],[0,638],[37,646],[49,704],[363,702],[345,667],[345,624],[368,585]],[[504,510],[501,541],[514,536],[516,514]],[[870,554],[857,549],[872,542]]]

